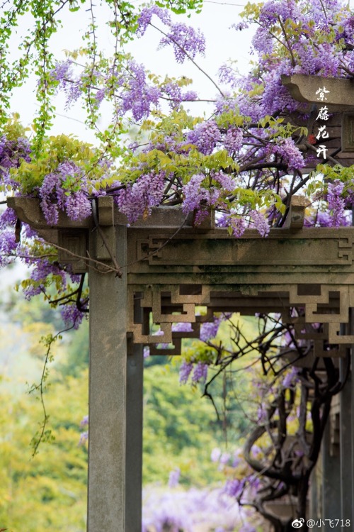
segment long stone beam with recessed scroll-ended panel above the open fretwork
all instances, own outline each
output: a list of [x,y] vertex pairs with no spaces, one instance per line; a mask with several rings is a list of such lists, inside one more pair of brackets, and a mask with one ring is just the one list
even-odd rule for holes
[[[221,267],[232,264],[278,267],[353,265],[353,233],[341,231],[341,234],[337,232],[336,235],[331,231],[322,233],[322,238],[316,238],[316,229],[289,234],[288,238],[282,238],[284,231],[279,229],[273,230],[268,238],[259,238],[259,235],[257,238],[256,231],[251,238],[230,238],[227,233],[216,230],[209,239],[202,234],[181,232],[170,243],[169,233],[155,232],[149,234],[148,238],[135,240],[135,253],[138,262],[147,261],[150,266],[208,265],[210,261],[215,261]],[[272,235],[278,238],[272,238]],[[313,238],[308,238],[310,235]]]

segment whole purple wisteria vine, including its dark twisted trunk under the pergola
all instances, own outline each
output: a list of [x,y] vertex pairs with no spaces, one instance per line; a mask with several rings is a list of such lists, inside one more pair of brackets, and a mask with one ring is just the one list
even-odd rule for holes
[[[39,33],[23,40],[20,60],[7,63],[1,60],[3,203],[6,196],[37,198],[48,226],[56,226],[62,214],[73,221],[91,216],[96,197],[109,194],[129,224],[140,217],[146,218],[156,206],[177,205],[185,216],[193,213],[195,225],[210,211],[215,211],[219,226],[234,238],[240,238],[246,228],[256,228],[266,238],[270,228],[285,223],[292,196],[304,194],[309,201],[305,225],[336,228],[350,223],[351,168],[343,167],[343,161],[339,164],[336,153],[323,159],[314,157],[316,145],[321,141],[313,135],[311,109],[295,101],[282,84],[284,74],[353,79],[354,16],[346,3],[275,0],[247,4],[241,22],[235,21],[230,28],[230,31],[256,28],[252,43],[255,61],[247,76],[238,74],[232,63],[221,65],[215,75],[205,72],[198,64],[198,57],[206,52],[202,32],[156,4],[137,12],[127,2],[108,2],[113,6],[116,21],[110,24],[115,37],[112,57],[98,50],[96,16],[90,4],[86,44],[81,50],[67,52],[66,60],[56,62],[49,41],[57,31],[55,16],[66,4],[49,0],[24,2],[14,4],[4,15],[1,42],[6,52],[11,28],[28,6],[40,23],[37,24]],[[68,7],[76,11],[80,5],[69,1]],[[172,7],[178,13],[200,9],[200,3],[178,1]],[[162,79],[124,51],[125,43],[133,35],[144,39],[150,31],[159,33],[159,48],[171,48],[176,62],[189,61],[205,74],[210,95],[200,96],[185,77]],[[21,86],[31,65],[38,76],[40,101],[40,112],[34,118],[35,133],[26,131],[19,116],[8,111],[8,95]],[[50,136],[55,109],[53,97],[57,92],[64,94],[67,109],[76,102],[84,106],[86,122],[96,132],[95,146],[69,135]],[[193,109],[194,102],[200,101],[207,105],[205,116],[195,116],[189,110]],[[101,131],[98,118],[107,109],[110,109],[111,125]],[[42,294],[52,306],[62,308],[68,326],[79,326],[89,305],[84,280],[59,263],[56,248],[21,224],[12,209],[5,208],[0,216],[0,266],[8,265],[16,257],[32,267],[30,276],[22,282],[25,297]],[[53,286],[55,297],[50,292]],[[215,334],[208,330],[216,326],[215,321],[201,329],[201,340],[209,345],[209,354],[204,358],[187,357],[181,365],[181,383],[189,379],[194,384],[204,383],[206,395],[210,367],[215,367],[217,372],[226,370],[239,356],[224,351],[220,358],[221,348],[217,350],[210,344]],[[292,341],[291,331],[284,331],[279,324],[275,328],[278,326],[281,329],[280,332],[277,329],[278,336],[283,337],[287,332]],[[291,342],[285,344],[289,347]],[[254,345],[259,347],[263,343],[259,340]],[[304,346],[300,348],[303,351]],[[211,357],[213,349],[219,358]],[[261,355],[264,370],[264,353]],[[321,394],[316,396],[319,440],[330,396],[333,389],[340,388],[339,382],[333,383],[332,370],[326,366],[327,379],[321,383]],[[286,424],[296,406],[291,393],[295,377],[299,375],[285,376],[278,394],[273,394],[268,408],[260,412],[258,423],[266,420],[270,428],[274,423],[274,429]],[[301,379],[304,387],[305,380],[309,386],[308,375],[302,372]],[[286,397],[284,389],[290,390]],[[320,410],[323,419],[319,419]],[[278,412],[276,420],[275,411]],[[261,426],[264,429],[264,423]],[[253,434],[252,445],[246,453],[255,470],[261,467],[261,462],[251,458],[251,447],[261,436],[258,432]],[[312,453],[313,467],[317,449],[309,450],[304,434],[302,437],[301,452],[303,456],[307,453],[307,458]],[[268,492],[265,489],[269,497],[288,493],[290,486],[294,490],[295,484],[299,488],[300,482],[308,481],[309,470],[300,480],[295,479],[295,465],[300,467],[303,462],[302,455],[295,452],[299,449],[294,447],[293,451],[291,457],[285,457],[291,458],[294,465],[294,471],[286,478],[280,455],[273,456],[271,467],[278,477],[275,475],[275,484],[267,485]],[[305,487],[305,484],[301,486],[302,493]],[[240,487],[240,483],[230,481],[229,494],[238,498],[240,504],[244,489],[244,484]],[[263,501],[258,500],[257,504],[259,510]],[[299,505],[301,513],[303,498]]]

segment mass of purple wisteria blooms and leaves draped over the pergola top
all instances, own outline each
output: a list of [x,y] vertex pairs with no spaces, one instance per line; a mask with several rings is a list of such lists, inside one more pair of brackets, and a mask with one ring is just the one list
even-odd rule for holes
[[[73,52],[52,65],[48,87],[64,92],[68,108],[78,100],[89,106],[89,123],[101,145],[93,148],[64,135],[47,137],[44,130],[30,138],[18,116],[3,121],[0,191],[38,198],[50,226],[62,215],[83,220],[91,215],[94,198],[111,194],[127,223],[149,216],[155,206],[179,204],[186,216],[194,213],[196,225],[214,210],[217,224],[235,238],[246,228],[266,237],[271,227],[284,223],[294,189],[308,193],[312,201],[307,224],[348,223],[353,177],[329,165],[309,174],[313,152],[302,143],[309,133],[308,110],[292,99],[281,75],[354,77],[352,13],[339,0],[277,0],[250,4],[242,16],[231,31],[256,23],[256,67],[240,77],[232,63],[224,64],[220,85],[205,72],[216,93],[208,99],[209,116],[185,110],[185,101],[199,99],[195,91],[185,90],[189,79],[160,79],[123,52],[113,59],[96,55],[84,66]],[[199,30],[174,21],[170,11],[156,5],[145,6],[136,23],[137,38],[157,31],[159,48],[171,47],[177,62],[190,60],[199,67],[198,57],[205,54]],[[84,62],[85,57],[90,57],[88,50],[82,51]],[[113,111],[112,126],[105,132],[97,125],[103,102]],[[135,127],[135,140],[126,146],[118,139],[130,126]],[[45,291],[50,268],[59,292],[64,290],[55,251],[42,257],[45,243],[25,224],[20,239],[20,230],[11,210],[1,214],[0,264],[16,255],[28,263],[33,257],[42,273],[37,273],[40,278],[32,274],[25,286],[28,297]],[[199,371],[196,380],[203,378]]]

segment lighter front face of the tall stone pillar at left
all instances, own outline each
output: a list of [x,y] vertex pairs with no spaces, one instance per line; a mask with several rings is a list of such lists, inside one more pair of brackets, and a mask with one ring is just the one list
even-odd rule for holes
[[[91,233],[90,255],[95,257]],[[117,260],[127,263],[127,228],[115,227]],[[125,532],[127,277],[91,263],[88,532]]]

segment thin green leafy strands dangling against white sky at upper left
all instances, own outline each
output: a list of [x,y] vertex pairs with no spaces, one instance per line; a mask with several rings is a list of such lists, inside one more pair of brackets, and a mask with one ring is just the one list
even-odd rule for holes
[[[118,50],[135,35],[139,9],[129,1],[105,0],[102,4],[108,8],[106,24],[115,42],[114,61],[115,65],[118,65],[120,62]],[[162,3],[156,2],[156,4],[163,5],[175,13],[185,13],[190,10],[200,12],[202,0],[173,0],[172,2],[167,0]],[[57,57],[53,52],[52,40],[55,34],[63,28],[61,17],[65,16],[65,13],[79,11],[85,15],[89,13],[89,23],[83,35],[84,47],[81,54],[88,56],[92,62],[86,76],[86,110],[88,111],[87,123],[93,128],[96,127],[97,106],[91,89],[94,87],[94,71],[102,57],[98,52],[97,43],[97,6],[86,0],[21,0],[5,2],[1,9],[3,11],[0,16],[0,124],[5,124],[8,120],[13,90],[23,86],[28,77],[35,73],[38,79],[36,96],[39,110],[33,121],[35,131],[33,149],[39,156],[43,150],[45,132],[52,126],[55,116],[53,96],[57,81],[52,78],[51,71],[55,67]],[[14,40],[17,27],[21,28],[20,43]],[[13,60],[11,54],[13,48],[18,48],[16,60]],[[120,133],[119,123],[98,136],[103,142],[109,144],[116,138],[117,133]]]

